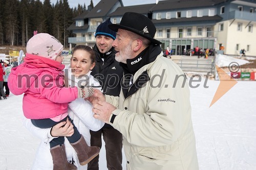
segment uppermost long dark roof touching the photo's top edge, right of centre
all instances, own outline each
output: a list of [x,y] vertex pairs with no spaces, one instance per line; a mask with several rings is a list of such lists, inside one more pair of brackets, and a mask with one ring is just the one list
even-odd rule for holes
[[184,8],[199,8],[213,6],[216,4],[224,3],[227,0],[168,0],[159,1],[151,10],[172,10],[172,9],[184,9]]

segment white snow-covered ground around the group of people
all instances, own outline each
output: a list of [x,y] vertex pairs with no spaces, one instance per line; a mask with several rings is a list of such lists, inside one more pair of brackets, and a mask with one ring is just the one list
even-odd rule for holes
[[[204,83],[205,79],[199,87],[190,88],[200,169],[255,169],[256,81],[239,81],[210,108],[220,82],[208,80],[208,88]],[[22,98],[10,94],[7,100],[0,101],[1,170],[30,169],[39,144],[39,139],[23,126]],[[104,155],[102,147],[100,170],[106,169]],[[123,169],[125,163],[123,154]]]

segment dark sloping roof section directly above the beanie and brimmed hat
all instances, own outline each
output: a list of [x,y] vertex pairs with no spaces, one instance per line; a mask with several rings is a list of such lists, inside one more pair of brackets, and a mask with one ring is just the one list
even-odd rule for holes
[[146,14],[150,12],[150,9],[153,8],[155,5],[156,4],[145,4],[145,5],[118,7],[116,11],[112,12],[108,16],[123,15],[125,12],[136,12],[140,14]]

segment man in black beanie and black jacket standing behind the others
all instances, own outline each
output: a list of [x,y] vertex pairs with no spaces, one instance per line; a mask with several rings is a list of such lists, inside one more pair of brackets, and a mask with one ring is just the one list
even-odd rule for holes
[[[121,90],[120,81],[123,69],[115,60],[116,51],[112,42],[116,32],[109,29],[110,20],[101,23],[95,33],[96,44],[93,50],[96,54],[96,65],[91,75],[99,80],[103,93],[118,96]],[[101,135],[105,141],[106,163],[108,169],[122,169],[122,134],[111,125],[105,124],[99,131],[91,133],[91,145],[101,148]],[[88,163],[88,170],[99,169],[99,155]]]

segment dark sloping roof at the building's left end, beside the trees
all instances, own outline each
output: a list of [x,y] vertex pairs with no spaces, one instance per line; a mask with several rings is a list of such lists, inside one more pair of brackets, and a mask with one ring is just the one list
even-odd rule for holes
[[[103,17],[119,0],[101,0],[87,15],[87,18]],[[122,5],[123,6],[123,5]]]

